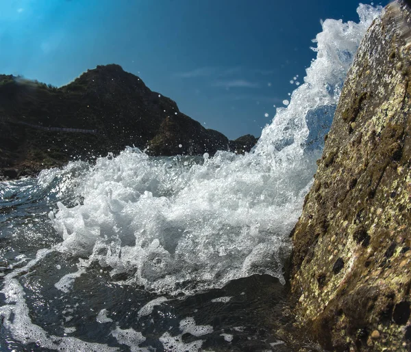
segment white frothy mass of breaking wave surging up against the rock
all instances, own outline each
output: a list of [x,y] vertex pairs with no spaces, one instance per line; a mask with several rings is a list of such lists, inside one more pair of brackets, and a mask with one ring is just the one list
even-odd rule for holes
[[127,282],[158,293],[192,293],[255,273],[284,282],[288,234],[321,154],[306,149],[306,116],[336,106],[378,12],[360,5],[360,23],[323,22],[304,83],[288,107],[277,109],[253,152],[206,153],[203,165],[192,166],[133,148],[98,159],[77,189],[82,204],[60,203],[50,215],[61,248],[112,268],[112,275],[129,273]]

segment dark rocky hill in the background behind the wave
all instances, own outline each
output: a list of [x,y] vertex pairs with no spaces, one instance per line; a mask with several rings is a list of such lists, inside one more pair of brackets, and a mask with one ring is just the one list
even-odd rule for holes
[[[251,143],[252,144],[252,143]],[[136,146],[151,155],[249,151],[206,129],[121,66],[97,66],[60,88],[0,75],[0,168],[34,174],[74,157]],[[254,143],[255,144],[255,143]]]

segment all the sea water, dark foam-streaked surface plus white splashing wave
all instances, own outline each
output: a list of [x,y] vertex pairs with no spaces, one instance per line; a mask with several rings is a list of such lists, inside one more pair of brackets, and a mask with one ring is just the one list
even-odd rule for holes
[[284,265],[364,32],[328,19],[245,155],[136,148],[0,183],[1,351],[292,351]]

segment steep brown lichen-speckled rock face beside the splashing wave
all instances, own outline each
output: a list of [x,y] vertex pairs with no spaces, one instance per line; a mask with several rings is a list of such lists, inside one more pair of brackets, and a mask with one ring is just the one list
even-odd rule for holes
[[292,232],[299,321],[332,351],[411,349],[411,53],[394,16],[362,40]]

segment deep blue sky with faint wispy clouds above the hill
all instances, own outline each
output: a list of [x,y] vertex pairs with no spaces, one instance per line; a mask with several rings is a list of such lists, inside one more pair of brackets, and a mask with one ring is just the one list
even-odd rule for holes
[[358,3],[0,0],[0,73],[60,86],[116,63],[206,128],[260,136],[303,81],[321,19],[358,21]]

